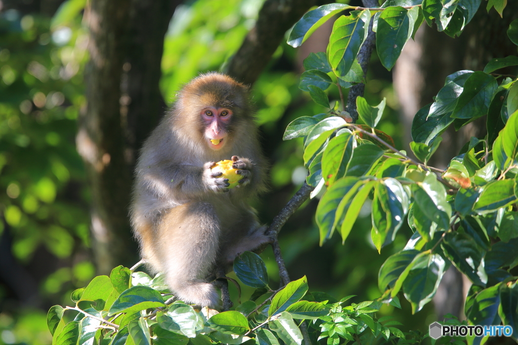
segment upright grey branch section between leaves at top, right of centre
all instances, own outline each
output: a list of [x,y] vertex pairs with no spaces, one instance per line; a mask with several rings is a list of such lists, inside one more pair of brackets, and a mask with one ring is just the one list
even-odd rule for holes
[[[378,0],[363,0],[363,5],[367,8],[378,7]],[[367,38],[362,44],[362,48],[359,49],[358,55],[356,59],[360,66],[362,66],[362,70],[364,75],[367,75],[367,67],[370,60],[370,55],[372,54],[372,49],[376,43],[376,34],[372,31],[372,19],[369,23],[369,33]],[[356,97],[363,96],[365,92],[365,84],[359,83],[351,87],[349,90],[349,96],[347,97],[347,108],[345,109],[353,118],[353,123],[356,123],[358,119],[358,112],[356,111]]]

